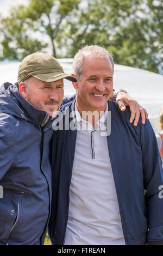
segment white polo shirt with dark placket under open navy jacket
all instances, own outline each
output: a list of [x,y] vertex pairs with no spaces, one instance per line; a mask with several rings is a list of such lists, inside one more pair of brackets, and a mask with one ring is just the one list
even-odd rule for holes
[[[106,136],[106,111],[98,130],[82,119],[77,107],[77,139],[65,245],[125,245]],[[89,129],[82,130],[81,125]],[[105,128],[104,128],[105,127]]]

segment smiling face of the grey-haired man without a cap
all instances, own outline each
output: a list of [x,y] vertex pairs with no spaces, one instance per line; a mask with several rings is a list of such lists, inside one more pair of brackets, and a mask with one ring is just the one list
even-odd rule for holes
[[112,96],[112,65],[109,58],[85,56],[77,89],[77,107],[81,111],[105,111]]

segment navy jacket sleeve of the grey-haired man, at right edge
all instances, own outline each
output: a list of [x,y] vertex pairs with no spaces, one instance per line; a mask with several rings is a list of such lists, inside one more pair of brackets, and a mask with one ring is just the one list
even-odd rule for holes
[[163,245],[163,173],[158,144],[151,124],[141,124],[145,202],[147,210],[148,245]]

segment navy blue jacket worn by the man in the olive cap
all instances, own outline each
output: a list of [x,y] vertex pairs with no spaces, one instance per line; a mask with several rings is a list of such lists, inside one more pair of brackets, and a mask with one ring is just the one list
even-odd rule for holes
[[[51,210],[51,115],[0,88],[0,245],[42,245]],[[2,193],[3,192],[3,193]]]

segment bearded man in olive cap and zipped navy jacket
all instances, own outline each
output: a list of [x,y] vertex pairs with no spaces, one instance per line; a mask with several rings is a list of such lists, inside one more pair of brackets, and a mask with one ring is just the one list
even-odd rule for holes
[[52,197],[51,119],[64,96],[64,78],[77,81],[57,59],[36,52],[20,64],[18,89],[1,86],[0,245],[43,245]]

